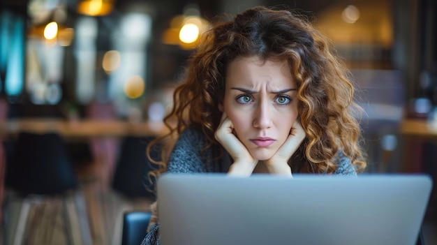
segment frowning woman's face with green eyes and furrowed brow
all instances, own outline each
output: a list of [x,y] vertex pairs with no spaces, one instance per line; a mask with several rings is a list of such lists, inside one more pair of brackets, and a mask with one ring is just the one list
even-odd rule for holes
[[285,61],[244,57],[230,62],[223,110],[253,158],[271,158],[297,119],[297,85]]

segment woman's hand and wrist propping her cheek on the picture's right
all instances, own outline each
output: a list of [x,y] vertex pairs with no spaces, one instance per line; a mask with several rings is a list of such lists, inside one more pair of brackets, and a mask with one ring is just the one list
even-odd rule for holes
[[291,128],[290,135],[288,135],[286,142],[279,147],[272,158],[265,161],[269,172],[272,174],[292,176],[288,160],[299,148],[300,144],[302,144],[305,137],[306,133],[304,128],[302,128],[302,124],[300,124],[300,121],[297,119]]

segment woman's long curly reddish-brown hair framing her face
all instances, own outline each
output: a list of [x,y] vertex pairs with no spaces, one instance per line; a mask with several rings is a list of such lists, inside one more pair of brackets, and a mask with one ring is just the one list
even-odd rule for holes
[[[332,43],[291,10],[257,6],[232,17],[213,24],[190,57],[184,82],[175,89],[172,112],[164,120],[170,128],[164,138],[198,124],[207,147],[218,144],[214,132],[221,119],[218,105],[230,61],[238,57],[286,61],[297,83],[299,119],[306,132],[298,150],[304,159],[300,172],[334,172],[339,150],[357,172],[364,170],[361,128],[355,117],[361,108],[353,101],[350,73],[334,56]],[[165,160],[158,164],[164,171]]]

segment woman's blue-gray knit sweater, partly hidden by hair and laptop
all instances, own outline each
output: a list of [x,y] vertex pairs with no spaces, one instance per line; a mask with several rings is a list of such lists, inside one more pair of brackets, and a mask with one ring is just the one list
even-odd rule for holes
[[[186,128],[179,136],[175,148],[170,155],[167,165],[167,172],[172,173],[199,173],[199,172],[228,172],[232,159],[228,154],[220,158],[220,149],[210,147],[201,151],[205,147],[206,140],[199,127],[191,126]],[[216,160],[212,160],[216,159]],[[337,168],[334,175],[357,175],[355,168],[350,159],[339,153],[336,158]],[[156,211],[156,203],[151,206],[154,213],[151,218],[151,224],[142,245],[158,245],[159,242],[159,225]]]

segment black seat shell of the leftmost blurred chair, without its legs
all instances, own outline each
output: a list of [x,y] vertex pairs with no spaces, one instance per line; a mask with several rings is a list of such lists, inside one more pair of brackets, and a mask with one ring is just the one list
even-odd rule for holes
[[64,142],[56,133],[20,133],[12,151],[6,187],[23,195],[54,195],[77,188]]

